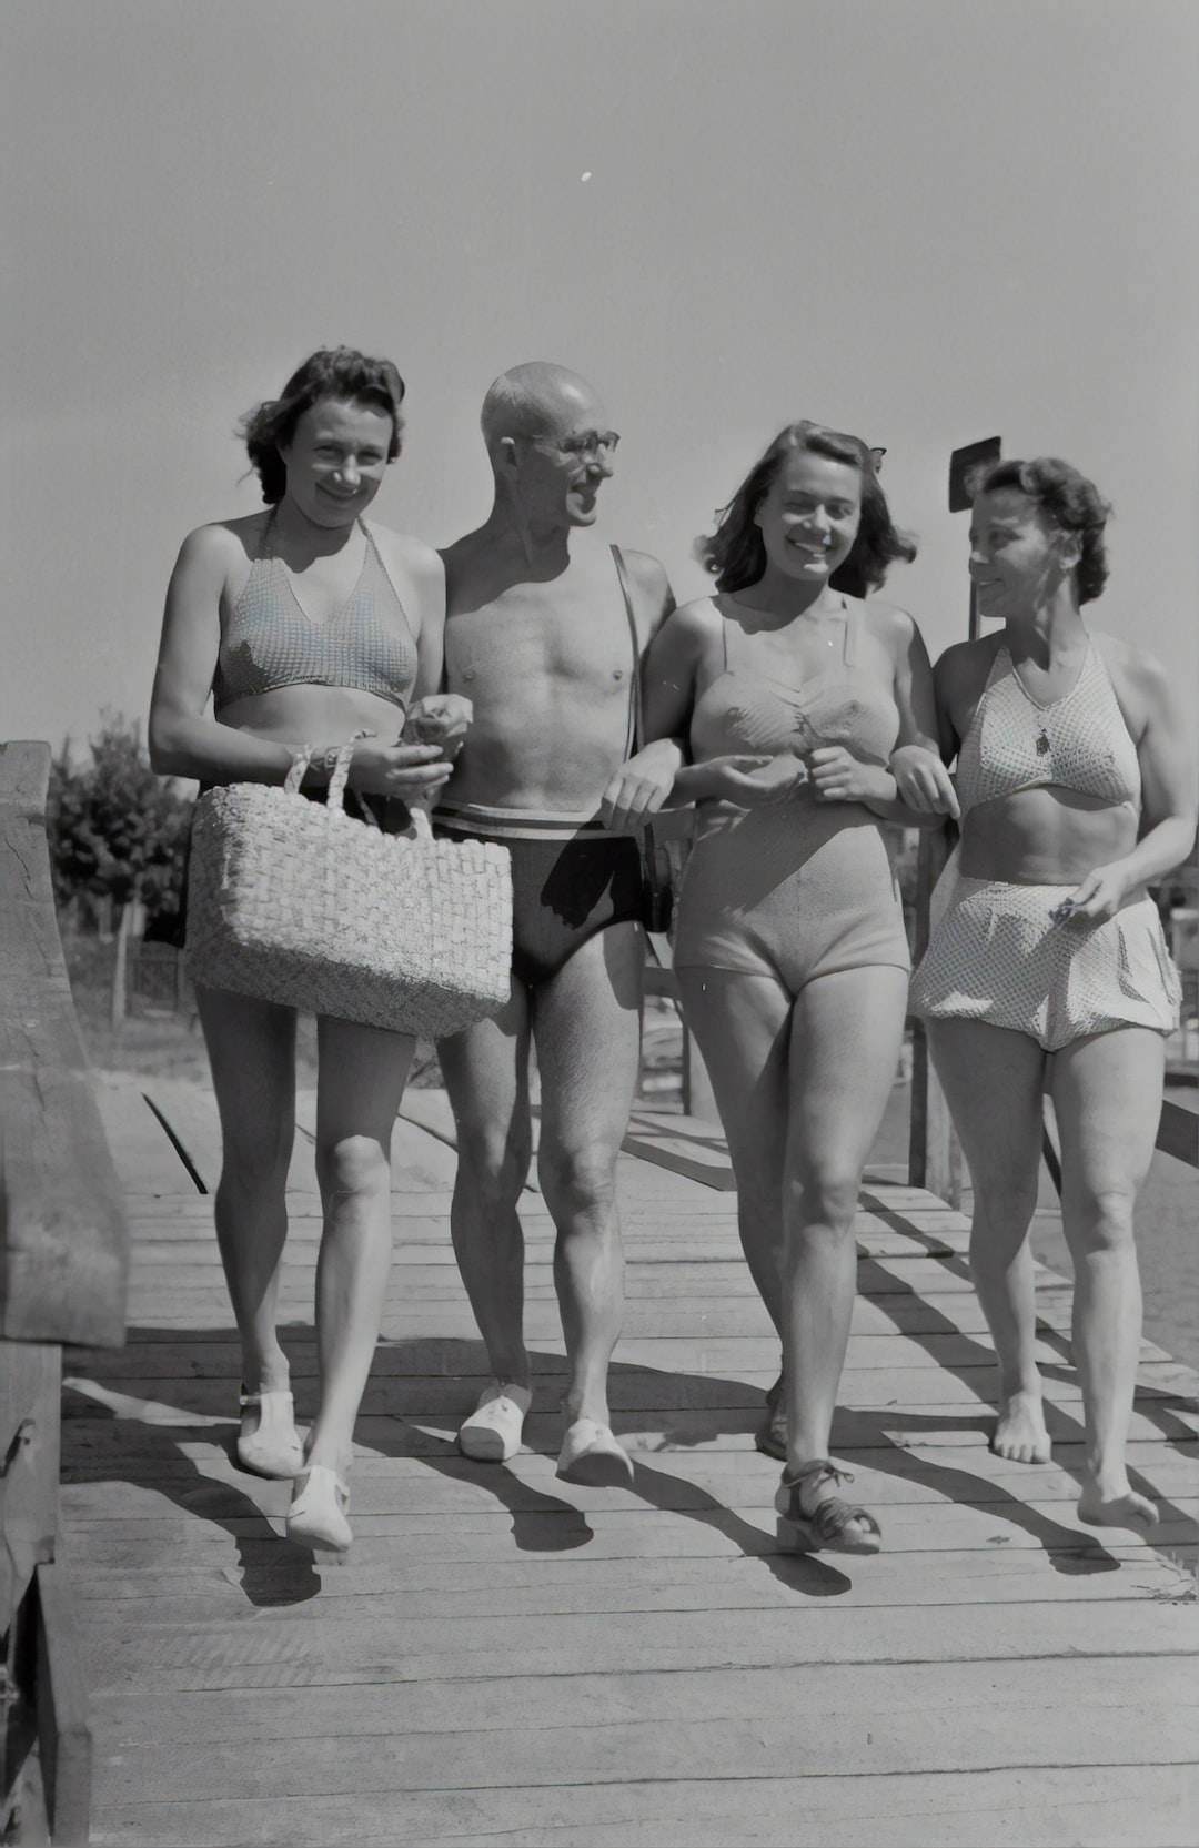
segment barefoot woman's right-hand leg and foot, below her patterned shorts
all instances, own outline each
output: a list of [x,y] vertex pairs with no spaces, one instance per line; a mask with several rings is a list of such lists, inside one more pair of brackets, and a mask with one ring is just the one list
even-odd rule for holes
[[1086,1425],[1079,1515],[1142,1532],[1158,1515],[1129,1486],[1125,1467],[1140,1353],[1132,1214],[1153,1159],[1164,1068],[1160,1033],[1118,1027],[1062,1048],[1051,1077],[1062,1138],[1062,1229],[1073,1258],[1073,1358]]

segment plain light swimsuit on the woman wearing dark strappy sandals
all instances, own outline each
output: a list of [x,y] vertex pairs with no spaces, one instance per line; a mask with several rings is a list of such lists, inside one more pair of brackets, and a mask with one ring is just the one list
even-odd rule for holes
[[[759,673],[741,625],[721,617],[724,673],[695,706],[695,763],[746,752],[802,756],[818,745],[889,761],[900,713],[890,689],[861,665],[861,602],[842,597],[842,658],[798,687]],[[879,817],[859,802],[818,802],[807,785],[761,808],[700,804],[674,965],[769,974],[793,994],[846,968],[909,968]]]

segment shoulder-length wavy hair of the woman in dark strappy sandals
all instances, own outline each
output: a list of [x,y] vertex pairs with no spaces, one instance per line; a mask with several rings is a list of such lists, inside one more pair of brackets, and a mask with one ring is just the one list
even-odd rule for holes
[[778,432],[728,506],[717,514],[717,530],[696,541],[696,556],[704,569],[715,575],[717,590],[745,590],[746,584],[757,584],[767,569],[767,549],[754,516],[774,486],[785,458],[796,451],[844,462],[861,475],[857,538],[850,556],[833,571],[830,584],[850,597],[866,597],[872,590],[879,590],[896,558],[911,562],[916,556],[916,541],[911,532],[902,532],[892,521],[868,445],[863,444],[861,436],[830,431],[824,423],[802,419]]

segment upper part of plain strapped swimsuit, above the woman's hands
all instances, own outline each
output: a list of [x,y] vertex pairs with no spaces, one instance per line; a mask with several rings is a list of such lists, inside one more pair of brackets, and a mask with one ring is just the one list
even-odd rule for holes
[[846,597],[841,602],[842,658],[811,675],[802,687],[748,665],[745,630],[730,617],[721,619],[724,673],[700,695],[691,717],[696,763],[743,752],[805,752],[817,745],[844,745],[866,763],[889,761],[900,736],[900,713],[889,687],[859,665],[861,604]]

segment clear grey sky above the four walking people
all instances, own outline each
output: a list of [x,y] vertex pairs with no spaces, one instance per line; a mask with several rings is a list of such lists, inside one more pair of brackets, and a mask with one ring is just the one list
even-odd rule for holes
[[950,449],[1116,505],[1096,621],[1195,684],[1195,0],[6,0],[0,737],[142,715],[233,425],[316,346],[408,381],[382,521],[488,510],[551,359],[623,432],[602,530],[693,536],[789,419],[887,445],[890,578],[964,634]]

